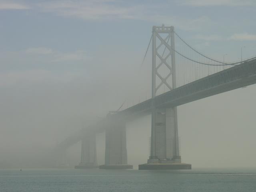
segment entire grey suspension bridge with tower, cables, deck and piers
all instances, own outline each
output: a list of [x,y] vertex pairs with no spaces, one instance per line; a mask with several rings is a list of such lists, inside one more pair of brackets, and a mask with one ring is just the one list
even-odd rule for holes
[[76,168],[98,167],[95,136],[100,132],[106,133],[106,145],[105,164],[99,167],[132,168],[127,162],[126,122],[151,114],[150,156],[139,169],[191,169],[191,164],[181,162],[177,106],[256,83],[256,57],[238,62],[216,60],[190,46],[173,26],[153,26],[148,48],[150,44],[151,98],[110,111],[106,118],[60,143],[58,151],[82,141]]

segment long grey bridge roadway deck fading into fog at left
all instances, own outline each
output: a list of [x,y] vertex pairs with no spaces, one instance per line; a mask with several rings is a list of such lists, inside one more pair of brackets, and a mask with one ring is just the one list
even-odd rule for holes
[[[95,124],[88,126],[86,129],[94,129],[102,132],[106,124],[112,118],[136,118],[141,115],[150,114],[152,107],[169,108],[186,104],[195,100],[242,88],[256,83],[256,59],[244,62],[237,66],[222,70],[215,74],[206,76],[194,82],[185,84],[164,94],[156,96],[154,100],[149,99],[130,108],[122,110],[110,118],[105,118]],[[154,105],[152,104],[154,102]],[[63,150],[75,144],[82,139],[85,130],[77,132],[68,137],[58,146]]]

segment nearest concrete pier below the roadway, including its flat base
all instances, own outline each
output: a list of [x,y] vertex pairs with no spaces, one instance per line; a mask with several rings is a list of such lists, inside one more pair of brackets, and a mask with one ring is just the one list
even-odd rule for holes
[[139,170],[191,169],[191,164],[181,163],[176,107],[155,109],[151,129],[150,157]]

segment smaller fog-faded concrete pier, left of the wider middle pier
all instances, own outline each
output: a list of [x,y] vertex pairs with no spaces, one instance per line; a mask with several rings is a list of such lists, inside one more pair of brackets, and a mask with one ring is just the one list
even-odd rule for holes
[[84,138],[82,138],[81,162],[75,168],[98,168],[95,132],[88,131]]

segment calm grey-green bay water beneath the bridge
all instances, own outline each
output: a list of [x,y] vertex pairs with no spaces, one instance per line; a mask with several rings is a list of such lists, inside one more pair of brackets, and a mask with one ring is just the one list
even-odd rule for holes
[[256,192],[256,168],[2,169],[0,192]]

